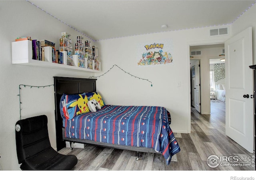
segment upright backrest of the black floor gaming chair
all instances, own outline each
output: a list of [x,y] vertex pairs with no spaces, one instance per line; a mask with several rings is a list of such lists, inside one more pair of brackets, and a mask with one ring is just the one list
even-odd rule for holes
[[26,118],[16,122],[16,150],[19,164],[51,148],[46,115]]

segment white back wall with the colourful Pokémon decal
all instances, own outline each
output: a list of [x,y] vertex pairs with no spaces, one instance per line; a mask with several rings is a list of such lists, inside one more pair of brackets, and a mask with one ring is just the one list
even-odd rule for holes
[[[224,42],[229,36],[209,36],[210,28],[162,32],[140,36],[100,41],[102,70],[108,71],[117,64],[130,74],[145,78],[150,83],[131,77],[114,67],[97,80],[107,104],[164,106],[172,115],[171,128],[174,132],[190,131],[190,56],[189,45]],[[172,40],[173,62],[158,66],[137,66],[141,54],[138,44]],[[208,68],[209,62],[202,68]],[[180,82],[180,86],[177,83]],[[209,94],[209,92],[207,92]],[[209,95],[208,95],[209,97]],[[208,98],[209,100],[209,98]]]

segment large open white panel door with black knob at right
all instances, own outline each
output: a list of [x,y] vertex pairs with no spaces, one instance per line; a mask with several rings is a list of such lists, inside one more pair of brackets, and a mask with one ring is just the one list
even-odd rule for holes
[[226,135],[253,153],[252,27],[225,42],[225,59]]

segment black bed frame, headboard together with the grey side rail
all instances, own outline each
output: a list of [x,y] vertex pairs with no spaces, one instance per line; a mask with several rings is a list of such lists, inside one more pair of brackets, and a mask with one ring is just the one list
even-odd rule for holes
[[[94,144],[97,146],[132,150],[137,152],[156,152],[152,148],[124,146],[118,144],[108,144],[104,142],[95,142],[91,140],[81,140],[74,138],[66,138],[64,136],[64,128],[62,125],[62,117],[60,115],[60,98],[62,94],[80,94],[84,92],[96,92],[96,79],[86,78],[67,78],[67,77],[54,77],[54,95],[55,95],[55,126],[56,126],[56,143],[57,151],[66,147],[66,141],[77,142],[83,144]],[[70,146],[71,147],[71,146]],[[160,153],[161,154],[161,153]]]

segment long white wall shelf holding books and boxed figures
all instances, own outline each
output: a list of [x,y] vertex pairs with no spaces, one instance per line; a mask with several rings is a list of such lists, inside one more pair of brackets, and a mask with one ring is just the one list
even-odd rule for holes
[[62,70],[65,69],[85,72],[100,72],[100,70],[93,70],[88,68],[69,66],[66,64],[34,60],[32,59],[32,41],[30,40],[12,42],[12,64],[57,68]]

